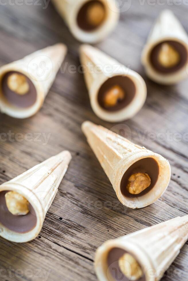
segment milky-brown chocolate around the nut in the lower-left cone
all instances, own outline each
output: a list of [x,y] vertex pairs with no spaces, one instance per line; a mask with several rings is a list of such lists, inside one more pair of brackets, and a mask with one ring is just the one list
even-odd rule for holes
[[29,212],[25,216],[15,216],[9,212],[5,194],[8,191],[0,192],[0,223],[8,229],[18,232],[26,233],[32,230],[36,226],[36,214],[31,204],[28,205]]

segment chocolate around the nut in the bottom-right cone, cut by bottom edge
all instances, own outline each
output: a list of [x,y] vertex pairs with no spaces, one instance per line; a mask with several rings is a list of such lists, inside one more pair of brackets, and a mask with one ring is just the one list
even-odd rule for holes
[[[128,253],[128,252],[121,249],[121,248],[113,248],[108,253],[108,257],[107,257],[108,270],[111,273],[111,275],[112,275],[112,277],[114,278],[115,281],[130,281],[130,279],[127,278],[121,272],[121,270],[119,268],[119,259],[125,253]],[[139,266],[140,266],[140,264],[139,264]],[[142,268],[142,267],[140,266],[140,268]],[[145,276],[142,276],[137,281],[145,281],[145,280],[146,280]]]

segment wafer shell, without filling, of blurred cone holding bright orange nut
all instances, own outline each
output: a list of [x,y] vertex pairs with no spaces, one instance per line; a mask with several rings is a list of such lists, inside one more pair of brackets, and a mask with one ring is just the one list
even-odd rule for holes
[[[123,121],[133,117],[142,108],[146,100],[147,89],[146,83],[138,73],[89,45],[81,46],[80,61],[84,67],[84,78],[90,96],[90,103],[98,117],[108,122]],[[132,102],[124,109],[109,112],[100,107],[97,95],[102,84],[108,78],[117,75],[128,76],[135,83],[136,94]]]

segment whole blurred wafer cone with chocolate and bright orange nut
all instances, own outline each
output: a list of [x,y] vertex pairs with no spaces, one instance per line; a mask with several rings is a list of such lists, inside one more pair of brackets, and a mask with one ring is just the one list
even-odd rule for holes
[[138,73],[90,45],[80,47],[80,61],[90,103],[99,118],[120,122],[142,108],[147,88]]

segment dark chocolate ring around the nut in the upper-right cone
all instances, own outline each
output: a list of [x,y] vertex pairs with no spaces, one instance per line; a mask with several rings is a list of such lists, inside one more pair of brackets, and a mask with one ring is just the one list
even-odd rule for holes
[[[175,65],[173,67],[164,67],[158,61],[159,52],[161,50],[162,44],[164,44],[164,43],[168,43],[180,55],[179,63],[177,63],[177,65]],[[173,73],[173,72],[176,72],[176,71],[180,70],[182,67],[184,67],[186,65],[187,59],[188,59],[188,54],[187,54],[187,50],[186,50],[185,46],[183,46],[181,43],[176,42],[176,41],[164,41],[164,42],[161,42],[160,44],[157,44],[152,49],[152,51],[150,53],[150,63],[151,63],[151,65],[153,66],[153,68],[157,72],[164,73],[164,74],[170,74],[170,73]]]

